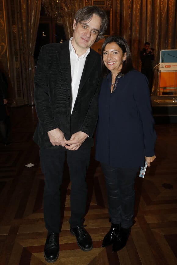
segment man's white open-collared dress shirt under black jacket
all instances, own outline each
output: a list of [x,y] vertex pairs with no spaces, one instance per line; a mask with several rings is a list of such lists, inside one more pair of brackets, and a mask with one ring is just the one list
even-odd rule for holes
[[88,53],[90,52],[90,48],[87,51],[78,57],[76,54],[74,47],[71,43],[72,37],[69,40],[69,49],[70,49],[70,63],[71,63],[71,89],[72,89],[72,106],[71,113],[74,108],[74,104],[78,95],[79,84],[81,81],[82,72],[85,65],[85,60],[87,58]]

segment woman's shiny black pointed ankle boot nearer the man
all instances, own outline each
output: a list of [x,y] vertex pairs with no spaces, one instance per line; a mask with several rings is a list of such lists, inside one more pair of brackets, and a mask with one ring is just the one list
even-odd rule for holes
[[102,243],[102,247],[113,244],[114,240],[118,237],[120,231],[120,224],[111,225],[110,231],[105,235]]

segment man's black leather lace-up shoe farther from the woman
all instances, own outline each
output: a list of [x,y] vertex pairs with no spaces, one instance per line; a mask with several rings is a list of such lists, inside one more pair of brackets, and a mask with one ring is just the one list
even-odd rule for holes
[[48,234],[45,247],[44,257],[49,263],[53,263],[58,259],[59,255],[59,234]]

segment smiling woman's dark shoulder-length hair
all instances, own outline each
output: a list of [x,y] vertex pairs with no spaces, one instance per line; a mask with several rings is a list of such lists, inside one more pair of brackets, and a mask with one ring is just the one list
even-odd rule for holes
[[103,63],[103,51],[104,51],[106,45],[108,43],[112,43],[112,42],[115,42],[115,43],[117,43],[117,45],[119,45],[119,47],[123,51],[123,54],[126,52],[126,60],[122,64],[121,74],[124,75],[133,69],[132,54],[131,54],[130,48],[129,48],[126,40],[120,36],[110,36],[104,41],[102,49],[101,49],[103,77],[106,77],[108,75],[108,73],[110,72],[110,70],[108,70],[107,67]]

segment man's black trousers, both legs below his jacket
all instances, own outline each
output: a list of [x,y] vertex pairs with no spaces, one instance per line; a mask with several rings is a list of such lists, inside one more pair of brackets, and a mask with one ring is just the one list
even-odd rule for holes
[[87,203],[86,173],[89,166],[91,148],[75,151],[47,149],[40,147],[41,169],[44,174],[44,220],[49,232],[59,233],[60,227],[60,186],[63,179],[64,162],[70,172],[70,226],[83,224]]

